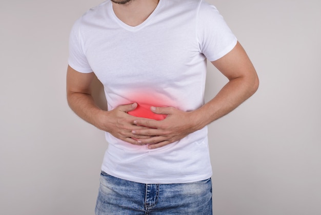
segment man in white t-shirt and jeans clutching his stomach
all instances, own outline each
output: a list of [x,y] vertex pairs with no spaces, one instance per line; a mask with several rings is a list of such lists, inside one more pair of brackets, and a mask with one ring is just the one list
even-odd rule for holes
[[[229,82],[204,102],[206,60]],[[95,106],[94,77],[108,111]],[[96,214],[212,214],[207,124],[249,98],[258,78],[214,6],[111,0],[73,26],[67,98],[106,132]]]

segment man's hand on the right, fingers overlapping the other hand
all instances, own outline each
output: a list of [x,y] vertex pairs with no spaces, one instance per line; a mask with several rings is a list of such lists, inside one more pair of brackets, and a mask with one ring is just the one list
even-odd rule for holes
[[145,129],[133,129],[135,135],[150,136],[150,138],[137,139],[137,144],[149,145],[149,149],[156,149],[186,137],[202,127],[197,124],[193,112],[184,112],[175,108],[151,107],[156,114],[165,114],[163,120],[139,118],[134,123],[147,127]]

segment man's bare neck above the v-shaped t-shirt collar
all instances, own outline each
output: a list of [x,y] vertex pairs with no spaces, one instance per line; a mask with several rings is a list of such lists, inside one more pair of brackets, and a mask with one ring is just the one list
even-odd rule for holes
[[159,0],[132,0],[127,4],[112,2],[113,10],[119,20],[127,25],[137,26],[142,24],[155,10]]

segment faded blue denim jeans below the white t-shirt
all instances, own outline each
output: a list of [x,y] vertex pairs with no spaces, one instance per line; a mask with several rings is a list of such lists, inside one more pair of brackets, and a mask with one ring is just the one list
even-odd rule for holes
[[141,184],[101,173],[96,215],[212,214],[212,181]]

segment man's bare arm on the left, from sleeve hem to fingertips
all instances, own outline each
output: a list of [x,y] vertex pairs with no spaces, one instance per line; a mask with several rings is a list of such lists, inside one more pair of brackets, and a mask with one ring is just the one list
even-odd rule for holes
[[134,135],[133,129],[143,129],[136,126],[133,121],[137,117],[127,114],[136,108],[137,104],[118,106],[111,111],[99,109],[91,96],[90,84],[94,73],[79,73],[70,66],[67,69],[67,101],[70,108],[82,119],[93,124],[98,129],[107,131],[118,139],[137,145],[132,138],[146,138],[145,136]]

